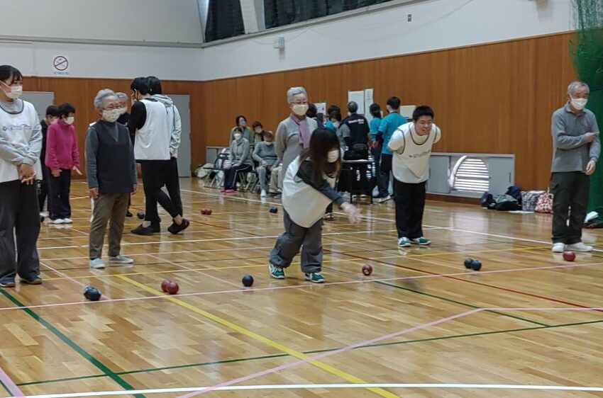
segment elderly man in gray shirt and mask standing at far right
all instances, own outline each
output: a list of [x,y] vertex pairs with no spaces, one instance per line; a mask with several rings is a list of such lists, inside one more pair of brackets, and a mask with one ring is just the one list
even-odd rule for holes
[[[568,102],[555,110],[551,121],[553,164],[553,252],[592,251],[582,243],[590,175],[601,152],[599,126],[594,113],[585,109],[590,89],[582,81],[568,87]],[[568,224],[568,218],[570,222]]]

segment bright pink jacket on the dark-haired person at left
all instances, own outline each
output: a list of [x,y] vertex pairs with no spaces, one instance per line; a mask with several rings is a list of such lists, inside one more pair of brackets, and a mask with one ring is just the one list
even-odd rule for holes
[[59,120],[48,126],[46,133],[46,159],[50,170],[79,168],[79,149],[75,127]]

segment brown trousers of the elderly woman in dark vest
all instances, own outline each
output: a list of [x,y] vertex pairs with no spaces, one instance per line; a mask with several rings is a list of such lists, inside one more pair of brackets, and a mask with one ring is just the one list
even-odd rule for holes
[[129,193],[101,193],[94,200],[92,225],[90,226],[90,259],[101,258],[107,222],[109,227],[109,256],[118,256],[121,251],[123,222],[128,212]]

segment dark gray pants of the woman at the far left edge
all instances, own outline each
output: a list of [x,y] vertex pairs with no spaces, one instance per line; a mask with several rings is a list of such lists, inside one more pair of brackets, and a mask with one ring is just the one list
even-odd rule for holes
[[39,234],[38,184],[0,183],[0,279],[40,275]]

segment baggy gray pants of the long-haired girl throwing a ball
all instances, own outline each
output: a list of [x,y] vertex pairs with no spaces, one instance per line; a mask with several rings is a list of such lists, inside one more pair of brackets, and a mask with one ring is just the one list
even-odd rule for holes
[[270,263],[278,268],[287,268],[302,247],[302,272],[321,272],[323,220],[304,228],[295,224],[287,212],[283,211],[283,222],[284,233],[278,237],[275,248],[270,251]]

